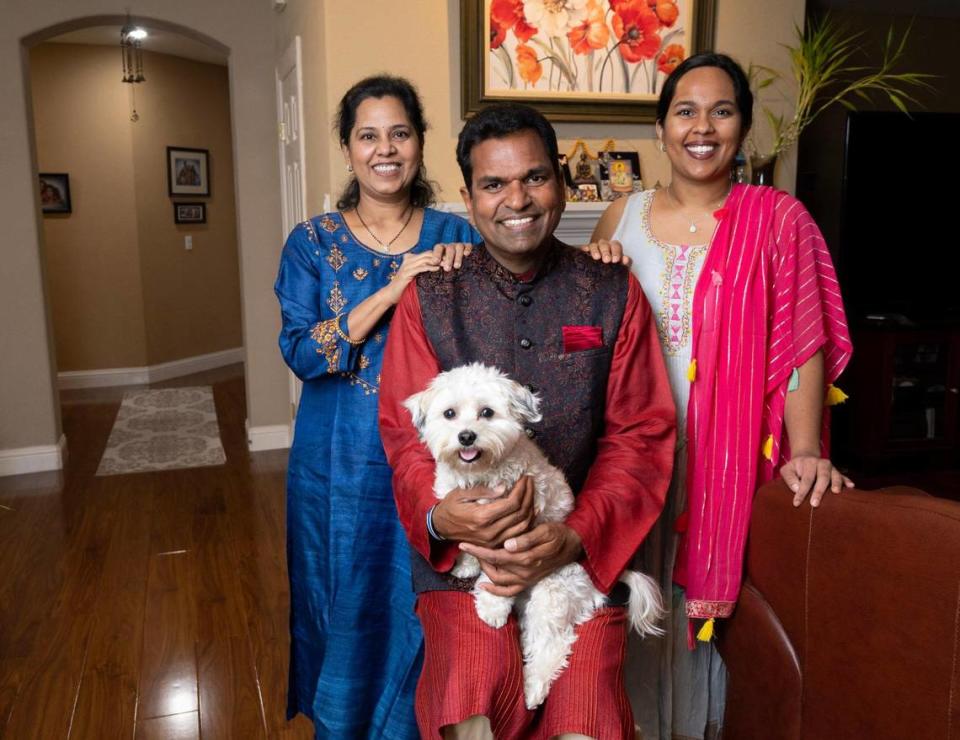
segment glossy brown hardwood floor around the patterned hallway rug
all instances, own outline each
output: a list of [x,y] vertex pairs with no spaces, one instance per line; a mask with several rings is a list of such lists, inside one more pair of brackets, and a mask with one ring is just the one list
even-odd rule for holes
[[123,389],[62,395],[60,473],[0,478],[0,737],[308,738],[286,723],[286,452],[246,449],[242,367],[212,384],[227,464],[94,477]]

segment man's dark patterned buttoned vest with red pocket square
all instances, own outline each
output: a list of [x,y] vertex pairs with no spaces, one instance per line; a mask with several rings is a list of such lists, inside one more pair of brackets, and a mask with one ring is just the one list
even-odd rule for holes
[[[550,462],[580,490],[604,430],[607,378],[627,300],[628,271],[559,242],[528,282],[481,245],[460,270],[417,278],[427,338],[449,370],[482,362],[540,396],[543,420],[533,437]],[[564,352],[563,327],[600,327],[603,346]],[[436,573],[414,554],[414,586],[422,591],[471,584]]]

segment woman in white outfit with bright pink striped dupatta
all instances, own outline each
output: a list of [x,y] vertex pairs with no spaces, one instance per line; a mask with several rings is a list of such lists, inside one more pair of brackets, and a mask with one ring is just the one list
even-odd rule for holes
[[674,594],[668,634],[631,645],[627,663],[644,740],[720,732],[726,671],[710,636],[736,606],[757,487],[779,474],[796,506],[818,506],[853,485],[825,445],[827,389],[851,352],[826,244],[795,198],[730,184],[752,109],[729,57],[680,64],[657,108],[670,184],[616,201],[593,234],[633,260],[678,407],[673,485],[639,556]]

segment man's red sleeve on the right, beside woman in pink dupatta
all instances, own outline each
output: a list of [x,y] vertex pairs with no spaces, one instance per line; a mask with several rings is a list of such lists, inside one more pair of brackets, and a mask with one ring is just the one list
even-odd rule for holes
[[583,566],[608,593],[663,509],[673,470],[676,411],[650,305],[631,275],[607,384],[606,426],[567,518]]

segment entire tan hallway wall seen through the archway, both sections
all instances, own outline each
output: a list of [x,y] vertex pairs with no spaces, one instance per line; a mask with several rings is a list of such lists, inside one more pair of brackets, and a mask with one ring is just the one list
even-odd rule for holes
[[[67,172],[73,200],[43,219],[58,370],[240,346],[226,67],[145,53],[133,123],[116,49],[41,44],[30,62],[39,167]],[[167,194],[168,144],[210,152],[206,224],[173,222],[172,201],[189,199]]]

